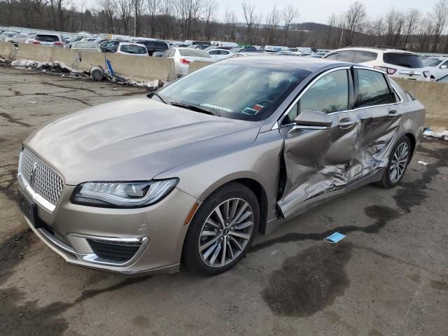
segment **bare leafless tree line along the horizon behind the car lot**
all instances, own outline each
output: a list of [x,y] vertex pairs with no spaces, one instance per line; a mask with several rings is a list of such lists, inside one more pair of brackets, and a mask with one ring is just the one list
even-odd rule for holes
[[369,18],[354,2],[332,13],[327,25],[298,23],[297,6],[272,6],[267,14],[244,0],[241,10],[225,8],[218,18],[217,0],[3,0],[0,25],[56,31],[89,31],[153,38],[236,41],[252,45],[383,45],[424,52],[448,52],[448,0],[437,0],[428,13],[415,8],[387,10]]

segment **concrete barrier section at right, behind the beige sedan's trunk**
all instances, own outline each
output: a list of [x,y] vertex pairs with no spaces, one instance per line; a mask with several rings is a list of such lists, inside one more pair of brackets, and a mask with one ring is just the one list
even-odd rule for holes
[[448,129],[448,84],[395,79],[407,92],[426,107],[426,126]]

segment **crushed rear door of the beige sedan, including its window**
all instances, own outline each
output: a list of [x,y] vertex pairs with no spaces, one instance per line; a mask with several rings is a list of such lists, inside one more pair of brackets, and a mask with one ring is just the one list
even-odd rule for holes
[[398,133],[402,115],[386,75],[374,69],[355,69],[355,97],[360,130],[353,178],[358,179],[387,164],[387,148]]

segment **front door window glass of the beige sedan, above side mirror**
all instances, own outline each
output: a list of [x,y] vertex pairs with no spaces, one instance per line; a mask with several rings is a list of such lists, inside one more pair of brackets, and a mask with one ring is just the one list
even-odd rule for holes
[[349,106],[349,74],[346,70],[336,70],[319,78],[308,87],[299,101],[283,119],[283,125],[294,122],[294,119],[305,110],[332,113],[345,111]]

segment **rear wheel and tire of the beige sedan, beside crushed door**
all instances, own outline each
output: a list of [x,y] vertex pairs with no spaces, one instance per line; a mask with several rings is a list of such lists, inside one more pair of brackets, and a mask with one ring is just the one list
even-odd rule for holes
[[404,136],[398,140],[393,146],[391,155],[389,155],[389,162],[384,170],[381,181],[378,183],[383,188],[394,188],[398,186],[409,165],[411,158],[411,141]]

